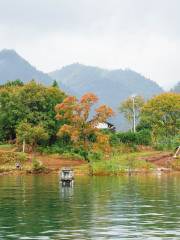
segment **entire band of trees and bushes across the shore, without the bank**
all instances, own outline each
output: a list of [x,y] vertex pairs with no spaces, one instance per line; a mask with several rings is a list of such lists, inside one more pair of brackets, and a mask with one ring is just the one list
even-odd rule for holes
[[[50,87],[35,81],[8,82],[0,86],[0,142],[13,142],[26,150],[38,147],[49,153],[79,154],[85,159],[111,152],[122,143],[157,148],[178,144],[180,94],[164,93],[147,102],[140,96],[124,101],[119,111],[132,125],[127,133],[97,128],[114,115],[106,105],[95,109],[97,101],[93,93],[81,99],[67,96],[56,82]],[[90,118],[92,108],[94,116]]]

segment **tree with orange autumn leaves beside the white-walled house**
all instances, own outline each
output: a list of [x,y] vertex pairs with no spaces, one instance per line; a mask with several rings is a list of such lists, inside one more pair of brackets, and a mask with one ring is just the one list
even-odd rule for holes
[[97,128],[98,123],[105,122],[113,116],[113,110],[101,105],[94,111],[90,119],[92,106],[98,102],[93,93],[87,93],[78,100],[74,96],[68,96],[55,107],[56,119],[64,121],[58,135],[68,135],[75,147],[84,151],[108,151],[109,138]]

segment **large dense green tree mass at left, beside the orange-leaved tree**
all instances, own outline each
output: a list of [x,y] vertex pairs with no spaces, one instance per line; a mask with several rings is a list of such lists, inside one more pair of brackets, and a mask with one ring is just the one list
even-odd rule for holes
[[54,107],[64,98],[65,94],[59,88],[45,87],[35,81],[0,88],[1,139],[15,139],[18,124],[28,122],[43,126],[49,142],[55,141],[60,122],[55,119]]

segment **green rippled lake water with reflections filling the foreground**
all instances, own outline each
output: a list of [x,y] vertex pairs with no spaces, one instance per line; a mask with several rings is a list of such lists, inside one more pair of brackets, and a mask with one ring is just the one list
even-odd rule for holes
[[180,175],[0,177],[0,239],[180,239]]

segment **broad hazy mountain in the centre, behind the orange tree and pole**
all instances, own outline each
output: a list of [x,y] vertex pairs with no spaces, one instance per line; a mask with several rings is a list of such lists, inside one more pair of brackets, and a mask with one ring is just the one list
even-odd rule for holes
[[[101,103],[106,103],[115,111],[121,101],[138,94],[146,99],[163,92],[154,81],[132,70],[106,70],[97,67],[72,64],[60,70],[49,73],[49,76],[61,82],[68,88],[69,93],[78,97],[86,92],[95,93]],[[121,129],[125,128],[122,116],[112,120]],[[127,125],[126,125],[127,127]]]

